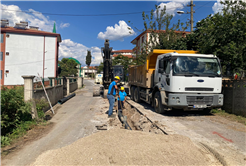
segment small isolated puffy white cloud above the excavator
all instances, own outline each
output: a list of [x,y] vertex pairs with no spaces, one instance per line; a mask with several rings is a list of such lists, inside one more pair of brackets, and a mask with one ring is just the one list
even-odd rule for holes
[[119,25],[108,26],[105,32],[100,32],[97,36],[98,39],[104,40],[120,40],[124,41],[124,38],[135,35],[134,30],[129,30],[129,26],[123,20],[119,21]]

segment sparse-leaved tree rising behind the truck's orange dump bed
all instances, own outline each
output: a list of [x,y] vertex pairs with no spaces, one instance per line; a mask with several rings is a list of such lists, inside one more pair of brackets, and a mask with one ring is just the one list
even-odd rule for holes
[[[166,7],[161,9],[157,5],[155,11],[151,10],[150,15],[143,12],[142,18],[144,21],[142,31],[148,31],[150,35],[149,41],[140,46],[142,50],[136,55],[137,65],[144,64],[148,53],[153,49],[171,49],[173,44],[183,37],[184,31],[189,25],[188,22],[181,23],[180,20],[177,24],[171,25],[173,16],[166,13]],[[139,50],[139,48],[136,49]]]

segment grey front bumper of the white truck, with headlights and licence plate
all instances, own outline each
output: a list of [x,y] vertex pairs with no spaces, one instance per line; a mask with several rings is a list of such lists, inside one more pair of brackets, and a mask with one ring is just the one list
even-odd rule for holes
[[169,107],[203,109],[223,106],[223,94],[178,94],[169,93]]

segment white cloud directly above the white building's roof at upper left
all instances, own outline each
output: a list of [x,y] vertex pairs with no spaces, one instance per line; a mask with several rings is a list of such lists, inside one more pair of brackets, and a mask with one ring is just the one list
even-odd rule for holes
[[28,10],[31,13],[20,12],[22,10],[16,5],[0,4],[0,6],[3,9],[0,16],[3,19],[8,19],[10,26],[14,26],[20,21],[27,21],[30,26],[37,26],[40,30],[52,32],[54,21],[50,20],[48,16],[33,9]]

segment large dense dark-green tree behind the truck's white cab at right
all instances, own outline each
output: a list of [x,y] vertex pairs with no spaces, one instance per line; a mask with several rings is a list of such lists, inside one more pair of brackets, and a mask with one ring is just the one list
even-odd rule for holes
[[221,13],[197,23],[195,35],[200,53],[215,54],[233,72],[246,69],[246,4],[226,0]]

